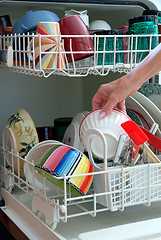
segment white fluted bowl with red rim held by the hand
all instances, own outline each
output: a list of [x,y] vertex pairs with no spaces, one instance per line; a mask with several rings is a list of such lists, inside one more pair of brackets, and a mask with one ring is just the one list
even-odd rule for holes
[[[118,109],[113,109],[111,114],[107,117],[99,118],[100,109],[94,110],[86,115],[82,120],[79,128],[80,141],[85,149],[86,146],[86,134],[90,129],[96,129],[103,133],[107,143],[107,158],[112,159],[115,155],[119,137],[125,134],[121,127],[121,123],[131,120],[126,114]],[[129,137],[125,141],[125,146],[128,146]],[[91,135],[90,148],[94,157],[98,159],[104,158],[104,145],[102,139],[97,134]]]

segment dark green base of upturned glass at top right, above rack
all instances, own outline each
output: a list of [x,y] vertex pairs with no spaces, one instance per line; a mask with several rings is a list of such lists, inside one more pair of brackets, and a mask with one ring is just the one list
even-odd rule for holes
[[138,22],[154,22],[155,24],[158,23],[158,17],[156,15],[143,15],[132,17],[129,19],[129,27],[131,27],[134,23]]

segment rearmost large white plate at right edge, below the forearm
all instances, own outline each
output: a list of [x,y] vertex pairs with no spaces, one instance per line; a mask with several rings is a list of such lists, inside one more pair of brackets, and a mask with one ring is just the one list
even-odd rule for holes
[[133,95],[133,98],[137,100],[146,110],[147,112],[152,116],[154,121],[159,124],[159,128],[161,129],[161,111],[160,109],[146,96],[144,96],[142,93],[136,92]]

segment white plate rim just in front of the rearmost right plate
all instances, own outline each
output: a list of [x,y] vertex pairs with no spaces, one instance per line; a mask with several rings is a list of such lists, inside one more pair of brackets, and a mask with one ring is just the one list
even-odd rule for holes
[[[153,119],[151,114],[133,96],[126,99],[126,107],[127,109],[132,109],[140,113],[146,119],[150,126],[155,123],[155,120]],[[143,123],[145,124],[145,122]],[[145,125],[144,127],[147,128]],[[156,136],[161,138],[161,131],[159,128],[156,131]]]

